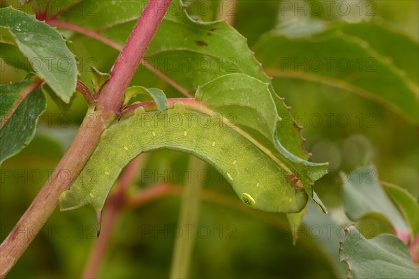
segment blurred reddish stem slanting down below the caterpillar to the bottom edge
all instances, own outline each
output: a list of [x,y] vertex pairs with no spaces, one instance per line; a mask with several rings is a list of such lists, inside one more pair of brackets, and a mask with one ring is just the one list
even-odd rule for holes
[[119,210],[121,209],[122,204],[124,204],[126,188],[135,180],[135,174],[137,174],[137,170],[140,169],[143,157],[144,155],[138,156],[125,167],[124,172],[122,172],[119,177],[117,189],[115,192],[112,192],[106,200],[104,213],[105,222],[102,229],[103,233],[91,248],[89,259],[84,266],[82,278],[96,278],[98,268],[112,234],[112,229],[115,227],[114,225],[117,216],[119,215]]

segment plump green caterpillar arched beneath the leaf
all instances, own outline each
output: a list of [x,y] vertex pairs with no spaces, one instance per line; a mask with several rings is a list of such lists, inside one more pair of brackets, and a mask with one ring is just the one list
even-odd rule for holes
[[61,194],[61,210],[85,205],[101,210],[122,169],[140,153],[156,149],[184,151],[210,163],[254,209],[295,213],[307,203],[307,193],[286,179],[290,170],[283,163],[215,113],[186,110],[177,102],[163,112],[138,107],[106,129],[75,183]]

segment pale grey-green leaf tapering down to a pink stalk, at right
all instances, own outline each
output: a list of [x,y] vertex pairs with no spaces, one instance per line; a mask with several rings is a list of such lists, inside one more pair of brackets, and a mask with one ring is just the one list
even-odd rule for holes
[[365,216],[388,220],[399,236],[408,233],[404,218],[381,187],[375,167],[357,169],[341,177],[346,216],[353,221]]

